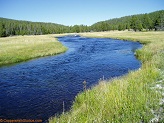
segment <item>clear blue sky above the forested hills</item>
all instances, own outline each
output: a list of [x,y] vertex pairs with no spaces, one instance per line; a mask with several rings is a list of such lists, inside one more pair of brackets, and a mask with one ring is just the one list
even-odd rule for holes
[[0,17],[63,25],[164,10],[164,0],[0,0]]

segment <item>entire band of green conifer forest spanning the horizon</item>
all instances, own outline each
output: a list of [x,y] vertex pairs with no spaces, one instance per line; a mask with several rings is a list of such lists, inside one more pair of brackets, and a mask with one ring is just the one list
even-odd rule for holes
[[164,10],[149,14],[125,16],[107,21],[101,21],[91,26],[74,25],[65,26],[55,23],[18,21],[0,18],[0,37],[12,35],[42,35],[59,33],[79,33],[90,31],[110,30],[164,30]]

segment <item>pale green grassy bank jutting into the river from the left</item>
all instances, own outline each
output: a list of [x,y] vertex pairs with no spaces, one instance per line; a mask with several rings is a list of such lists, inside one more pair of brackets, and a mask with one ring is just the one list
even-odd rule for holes
[[0,38],[0,66],[65,52],[67,48],[54,36],[59,35]]

